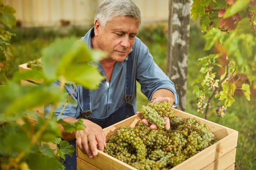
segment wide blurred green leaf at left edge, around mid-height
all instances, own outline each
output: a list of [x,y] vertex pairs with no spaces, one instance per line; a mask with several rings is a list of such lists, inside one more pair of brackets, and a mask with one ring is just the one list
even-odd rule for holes
[[56,86],[22,86],[11,81],[0,89],[0,93],[0,110],[5,110],[5,116],[53,102],[65,103],[68,97],[64,90]]

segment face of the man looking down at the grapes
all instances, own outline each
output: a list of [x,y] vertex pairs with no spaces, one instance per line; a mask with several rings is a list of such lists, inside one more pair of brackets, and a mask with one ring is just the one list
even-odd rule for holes
[[132,49],[139,29],[139,21],[130,16],[115,17],[102,28],[99,20],[94,23],[95,37],[92,46],[109,54],[114,61],[124,61]]

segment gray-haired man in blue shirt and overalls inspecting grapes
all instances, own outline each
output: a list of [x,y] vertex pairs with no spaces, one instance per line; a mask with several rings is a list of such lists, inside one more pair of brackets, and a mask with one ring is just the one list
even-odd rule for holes
[[[97,156],[97,149],[103,151],[106,147],[103,128],[135,115],[136,80],[149,100],[167,100],[173,106],[179,102],[173,82],[155,64],[146,45],[136,37],[140,24],[141,12],[131,0],[104,0],[97,9],[93,28],[81,38],[88,42],[89,48],[101,49],[108,54],[99,63],[94,63],[98,64],[105,80],[95,90],[76,86],[72,94],[76,104],[68,104],[61,119],[74,122],[83,118],[86,127],[72,133],[62,128],[62,135],[70,144],[76,143],[90,158]],[[65,88],[71,94],[74,85]],[[57,116],[61,110],[55,111]],[[145,119],[142,122],[157,128]],[[169,119],[166,123],[165,128],[169,129]],[[67,155],[64,166],[66,170],[76,169],[75,152],[72,157]]]

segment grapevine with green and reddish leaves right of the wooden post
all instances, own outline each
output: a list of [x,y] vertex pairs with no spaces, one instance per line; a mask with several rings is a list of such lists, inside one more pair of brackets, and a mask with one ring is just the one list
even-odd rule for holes
[[[202,67],[191,84],[195,85],[197,112],[204,113],[205,119],[211,108],[218,117],[225,117],[226,108],[235,102],[235,91],[242,91],[250,101],[251,90],[256,89],[255,7],[255,0],[193,0],[190,17],[193,21],[199,19],[200,29],[206,33],[204,50],[215,49],[215,54],[198,59]],[[218,76],[216,66],[220,70]],[[240,81],[242,75],[247,81]],[[219,102],[223,106],[218,106]]]

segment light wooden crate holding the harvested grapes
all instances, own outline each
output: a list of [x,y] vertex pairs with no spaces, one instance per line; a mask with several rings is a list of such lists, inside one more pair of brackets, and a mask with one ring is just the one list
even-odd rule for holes
[[[183,111],[173,108],[176,116],[184,119],[195,117],[202,124],[207,124],[211,132],[217,137],[218,142],[209,146],[208,148],[197,153],[193,157],[185,160],[179,165],[171,168],[171,170],[234,170],[236,161],[236,146],[238,141],[238,131],[211,121],[202,119],[195,115],[185,113]],[[140,121],[137,115],[129,117],[124,121],[104,128],[106,139],[110,136],[116,135],[117,130],[122,126],[134,127]],[[118,159],[99,151],[97,157],[88,158],[77,147],[77,170],[137,170],[136,168],[119,161]]]

